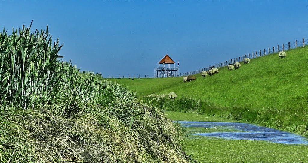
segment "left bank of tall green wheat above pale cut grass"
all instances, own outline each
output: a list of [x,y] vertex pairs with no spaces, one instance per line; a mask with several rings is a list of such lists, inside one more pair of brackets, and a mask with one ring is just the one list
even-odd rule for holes
[[193,162],[160,110],[59,62],[48,27],[30,27],[0,32],[0,162]]

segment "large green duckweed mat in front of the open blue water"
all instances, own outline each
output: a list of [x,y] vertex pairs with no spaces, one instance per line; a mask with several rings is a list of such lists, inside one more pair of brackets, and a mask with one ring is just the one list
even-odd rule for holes
[[189,137],[184,149],[198,162],[308,162],[306,145],[284,145],[266,141]]

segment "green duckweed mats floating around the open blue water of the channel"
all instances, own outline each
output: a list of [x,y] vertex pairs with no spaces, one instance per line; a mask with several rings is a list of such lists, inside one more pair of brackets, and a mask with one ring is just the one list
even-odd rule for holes
[[[174,121],[222,121],[229,119],[192,113],[164,112]],[[184,128],[184,149],[199,163],[203,162],[308,162],[307,145],[286,145],[266,141],[224,140],[192,136],[189,133],[234,132],[232,129]],[[237,131],[238,132],[238,131]]]

